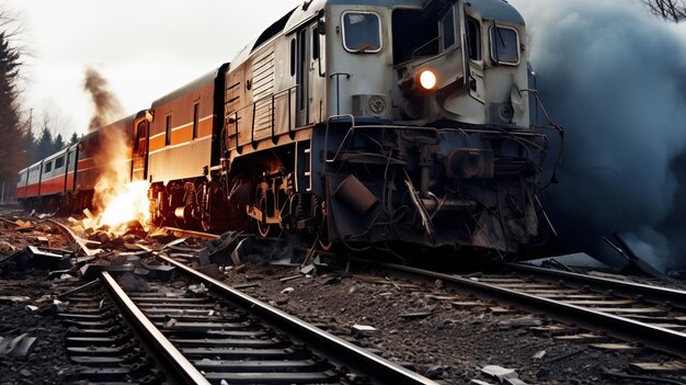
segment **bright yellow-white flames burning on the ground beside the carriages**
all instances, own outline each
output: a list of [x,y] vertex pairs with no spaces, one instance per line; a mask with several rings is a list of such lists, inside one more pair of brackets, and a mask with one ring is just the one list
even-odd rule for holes
[[124,185],[124,192],[112,197],[105,204],[100,216],[100,225],[115,230],[132,220],[138,220],[144,227],[150,222],[150,201],[147,181],[132,182]]

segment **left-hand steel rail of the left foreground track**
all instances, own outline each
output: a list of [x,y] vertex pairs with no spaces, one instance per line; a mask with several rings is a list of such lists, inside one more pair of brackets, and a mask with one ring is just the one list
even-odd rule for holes
[[140,337],[152,344],[155,355],[164,359],[162,365],[173,371],[175,375],[168,381],[178,381],[179,384],[210,384],[181,352],[162,335],[160,330],[145,316],[145,314],[126,295],[124,290],[107,272],[101,273],[103,286],[117,303],[123,315],[126,316]]

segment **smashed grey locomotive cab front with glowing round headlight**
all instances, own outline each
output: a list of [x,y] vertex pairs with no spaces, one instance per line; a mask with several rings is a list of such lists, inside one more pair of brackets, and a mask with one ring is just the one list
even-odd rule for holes
[[414,12],[418,22],[433,24],[416,48],[403,49],[403,26],[395,29],[396,50],[405,53],[396,57],[395,120],[528,128],[522,16],[502,0],[443,4],[430,1]]

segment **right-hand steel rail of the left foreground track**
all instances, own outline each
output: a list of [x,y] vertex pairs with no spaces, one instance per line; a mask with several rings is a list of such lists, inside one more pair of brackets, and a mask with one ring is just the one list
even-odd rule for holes
[[197,272],[173,259],[158,254],[160,260],[176,267],[182,273],[187,274],[203,283],[211,291],[220,294],[235,305],[241,306],[274,327],[288,332],[300,342],[307,343],[308,348],[320,354],[325,352],[328,358],[335,358],[334,361],[344,364],[353,371],[364,372],[370,378],[376,378],[376,383],[382,384],[433,384],[435,382],[422,376],[419,373],[409,371],[400,365],[387,361],[371,352],[366,351],[353,343],[323,331],[301,319],[282,312],[273,306],[260,302],[251,296],[237,291],[222,282]]

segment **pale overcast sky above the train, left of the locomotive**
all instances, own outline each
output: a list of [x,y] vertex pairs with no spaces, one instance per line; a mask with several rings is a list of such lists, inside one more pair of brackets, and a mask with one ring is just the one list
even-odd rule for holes
[[[299,0],[5,0],[23,29],[23,109],[44,110],[64,136],[84,133],[84,69],[110,81],[125,115],[230,61]],[[26,113],[27,116],[27,113]]]

